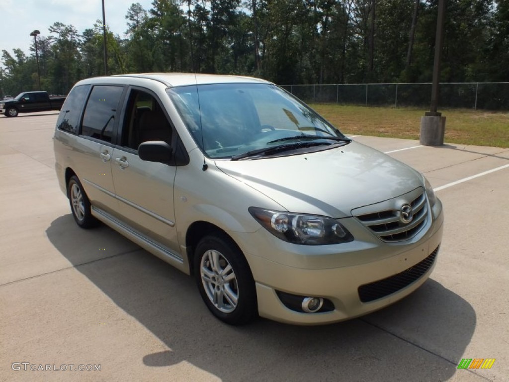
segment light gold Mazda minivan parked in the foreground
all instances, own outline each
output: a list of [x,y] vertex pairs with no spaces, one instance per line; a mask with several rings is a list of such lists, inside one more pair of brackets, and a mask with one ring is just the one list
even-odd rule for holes
[[230,324],[383,308],[426,281],[442,239],[423,175],[257,78],[79,81],[54,152],[78,226],[102,222],[194,275]]

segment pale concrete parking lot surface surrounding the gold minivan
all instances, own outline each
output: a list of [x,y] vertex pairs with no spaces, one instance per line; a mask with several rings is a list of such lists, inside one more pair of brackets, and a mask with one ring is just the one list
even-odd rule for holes
[[1,381],[507,380],[509,149],[354,137],[435,187],[446,221],[431,279],[342,323],[232,327],[193,279],[105,226],[76,226],[53,169],[56,117],[0,116]]

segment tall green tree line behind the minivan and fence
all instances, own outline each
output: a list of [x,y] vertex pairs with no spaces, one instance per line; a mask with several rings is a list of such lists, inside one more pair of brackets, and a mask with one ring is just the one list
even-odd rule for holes
[[[432,78],[438,0],[154,0],[107,30],[108,73],[253,75],[279,85]],[[446,0],[441,80],[509,80],[509,1]],[[0,93],[36,90],[35,44],[2,51]],[[41,88],[104,75],[100,20],[37,37]]]

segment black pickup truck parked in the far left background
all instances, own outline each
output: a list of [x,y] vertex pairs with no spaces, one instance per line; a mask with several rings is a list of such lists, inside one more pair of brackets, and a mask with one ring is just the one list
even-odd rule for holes
[[66,97],[50,97],[47,92],[24,92],[14,99],[0,101],[0,114],[17,117],[18,113],[60,110]]

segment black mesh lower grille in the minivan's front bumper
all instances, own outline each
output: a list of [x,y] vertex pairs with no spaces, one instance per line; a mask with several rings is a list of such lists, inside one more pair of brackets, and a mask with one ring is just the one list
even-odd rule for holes
[[389,294],[395,293],[412,284],[415,280],[424,275],[433,265],[438,249],[439,247],[437,247],[426,259],[418,262],[408,269],[405,269],[397,275],[390,276],[386,279],[378,280],[373,283],[361,285],[357,289],[360,301],[363,303],[369,303],[370,301],[388,296]]

